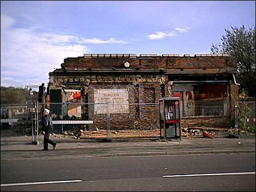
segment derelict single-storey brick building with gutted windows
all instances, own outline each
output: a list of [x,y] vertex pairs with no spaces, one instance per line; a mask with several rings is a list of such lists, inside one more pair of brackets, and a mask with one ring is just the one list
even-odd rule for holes
[[[227,127],[234,119],[236,73],[237,59],[226,54],[84,54],[49,73],[49,100],[62,103],[68,89],[81,91],[84,103],[103,103],[103,97],[118,103],[117,94],[122,104],[144,104],[113,109],[113,129],[153,129],[159,128],[159,106],[150,103],[174,96],[181,100],[183,126]],[[80,119],[88,113],[82,109]],[[106,123],[92,120],[97,127]]]

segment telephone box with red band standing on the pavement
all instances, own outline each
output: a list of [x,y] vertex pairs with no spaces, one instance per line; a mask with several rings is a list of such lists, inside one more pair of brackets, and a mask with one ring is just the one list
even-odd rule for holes
[[160,107],[160,137],[166,139],[181,139],[180,98],[166,97],[159,100]]

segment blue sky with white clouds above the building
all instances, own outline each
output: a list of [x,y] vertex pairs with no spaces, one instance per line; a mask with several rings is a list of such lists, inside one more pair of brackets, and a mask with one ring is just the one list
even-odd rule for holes
[[48,83],[84,53],[210,53],[255,1],[1,1],[1,86]]

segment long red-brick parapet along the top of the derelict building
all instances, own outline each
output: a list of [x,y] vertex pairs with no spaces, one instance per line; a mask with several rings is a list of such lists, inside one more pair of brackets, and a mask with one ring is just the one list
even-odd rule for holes
[[129,62],[130,67],[140,69],[195,69],[195,68],[236,68],[235,57],[137,57],[137,58],[67,58],[62,67],[66,69],[108,69],[123,67]]

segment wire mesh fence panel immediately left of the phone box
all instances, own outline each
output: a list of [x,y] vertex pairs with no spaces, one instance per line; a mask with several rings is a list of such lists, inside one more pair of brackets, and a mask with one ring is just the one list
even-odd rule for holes
[[159,138],[159,103],[109,105],[110,138]]

